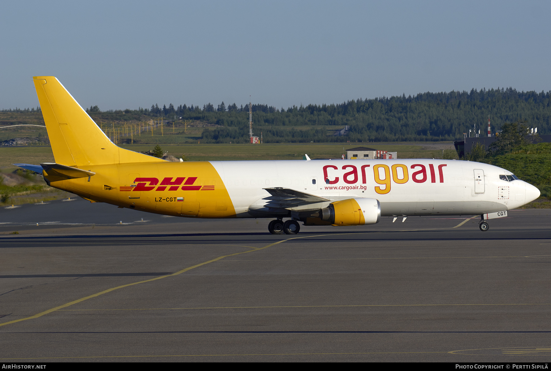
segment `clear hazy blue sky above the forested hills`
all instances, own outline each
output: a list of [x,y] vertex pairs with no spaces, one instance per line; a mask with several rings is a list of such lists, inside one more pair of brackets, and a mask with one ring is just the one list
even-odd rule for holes
[[551,90],[551,2],[4,2],[0,109],[53,75],[101,110]]

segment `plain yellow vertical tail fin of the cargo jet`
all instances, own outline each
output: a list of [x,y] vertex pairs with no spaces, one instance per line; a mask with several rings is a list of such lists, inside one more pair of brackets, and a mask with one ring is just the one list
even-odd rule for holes
[[164,161],[117,147],[57,78],[33,79],[56,163],[78,167]]

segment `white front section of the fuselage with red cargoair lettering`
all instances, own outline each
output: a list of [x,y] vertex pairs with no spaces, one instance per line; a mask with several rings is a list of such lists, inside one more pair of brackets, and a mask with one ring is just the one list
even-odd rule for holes
[[262,206],[266,203],[263,198],[269,196],[264,188],[269,187],[293,189],[331,201],[376,198],[383,216],[482,214],[514,209],[539,197],[539,190],[522,180],[500,179],[500,175],[511,174],[505,169],[460,160],[210,163],[223,179],[237,217],[266,214]]

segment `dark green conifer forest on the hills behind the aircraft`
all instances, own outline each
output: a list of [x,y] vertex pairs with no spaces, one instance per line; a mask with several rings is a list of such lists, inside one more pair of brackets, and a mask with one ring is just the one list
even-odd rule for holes
[[[96,122],[165,117],[206,123],[209,125],[196,138],[202,143],[249,141],[249,104],[154,104],[149,109],[111,111],[92,106],[87,111]],[[469,129],[485,134],[488,116],[492,132],[505,122],[522,119],[540,134],[551,133],[551,91],[518,92],[513,88],[360,98],[287,109],[253,104],[252,112],[253,131],[257,136],[262,132],[264,143],[449,141],[462,139]],[[347,135],[333,135],[345,125],[349,127]]]

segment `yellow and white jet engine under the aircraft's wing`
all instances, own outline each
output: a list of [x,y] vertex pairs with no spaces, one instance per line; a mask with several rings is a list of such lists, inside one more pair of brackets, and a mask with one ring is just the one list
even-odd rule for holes
[[[314,217],[314,215],[312,215]],[[349,198],[321,209],[317,217],[306,218],[304,225],[365,225],[379,223],[381,204],[375,198]]]

